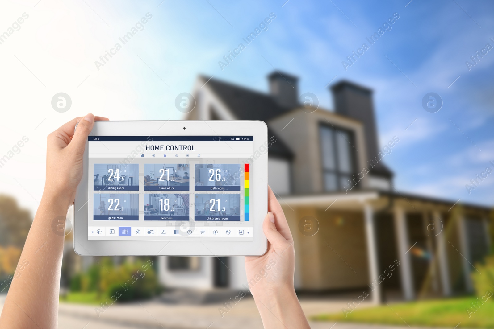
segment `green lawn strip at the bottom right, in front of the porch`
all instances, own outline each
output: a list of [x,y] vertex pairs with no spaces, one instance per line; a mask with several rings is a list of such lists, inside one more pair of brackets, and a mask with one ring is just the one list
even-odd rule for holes
[[[485,298],[484,298],[485,299]],[[494,300],[489,298],[483,305],[479,303],[478,310],[469,314],[475,309],[471,302],[477,301],[473,297],[427,300],[408,303],[388,303],[383,306],[355,308],[352,313],[345,317],[341,311],[339,313],[321,314],[312,317],[316,321],[336,321],[336,322],[360,322],[369,324],[387,324],[425,327],[445,327],[457,328],[494,328]],[[347,308],[348,309],[348,308]]]

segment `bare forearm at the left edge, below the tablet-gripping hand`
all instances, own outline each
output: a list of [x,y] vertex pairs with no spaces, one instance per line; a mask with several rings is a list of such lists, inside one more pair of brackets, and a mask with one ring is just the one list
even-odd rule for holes
[[[68,195],[45,190],[12,280],[1,328],[56,328]],[[51,310],[46,312],[46,310]]]

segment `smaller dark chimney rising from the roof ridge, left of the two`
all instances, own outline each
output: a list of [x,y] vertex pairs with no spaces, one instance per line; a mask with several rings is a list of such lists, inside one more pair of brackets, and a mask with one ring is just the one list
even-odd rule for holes
[[295,108],[298,104],[298,77],[278,71],[268,75],[269,93],[284,108]]

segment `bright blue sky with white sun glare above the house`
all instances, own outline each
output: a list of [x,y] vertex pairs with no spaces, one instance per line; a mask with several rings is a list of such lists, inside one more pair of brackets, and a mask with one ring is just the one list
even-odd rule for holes
[[[24,0],[2,4],[0,21],[5,24],[0,29],[6,29],[24,11],[30,18],[0,45],[3,105],[14,109],[23,99],[27,120],[21,131],[7,120],[0,123],[0,152],[5,154],[22,135],[29,135],[31,144],[8,164],[10,169],[0,170],[0,190],[35,209],[37,204],[26,198],[26,191],[12,179],[17,177],[24,184],[22,175],[13,172],[23,166],[37,166],[43,172],[45,136],[88,109],[111,119],[180,119],[175,97],[190,92],[198,74],[267,91],[266,75],[276,68],[299,76],[299,92],[316,94],[326,109],[332,108],[332,100],[325,87],[335,76],[332,83],[348,79],[371,87],[379,143],[383,146],[393,136],[400,138],[384,158],[396,173],[397,189],[493,204],[494,174],[471,194],[465,188],[490,160],[494,162],[494,50],[470,71],[465,65],[487,43],[494,46],[489,40],[494,39],[493,2],[135,2]],[[148,12],[153,17],[144,29],[97,70],[94,62],[99,56]],[[218,61],[270,13],[276,18],[267,31],[221,70]],[[342,61],[367,43],[366,37],[394,13],[400,18],[392,29],[345,71]],[[73,100],[66,113],[49,106],[59,91]],[[421,106],[422,97],[429,92],[439,94],[444,102],[436,113]],[[6,115],[15,120],[18,113]],[[32,184],[29,193],[33,199],[41,197],[41,176],[26,181]]]

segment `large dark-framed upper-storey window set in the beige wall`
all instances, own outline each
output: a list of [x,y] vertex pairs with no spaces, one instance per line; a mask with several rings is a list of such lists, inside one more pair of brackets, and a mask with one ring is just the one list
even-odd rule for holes
[[322,125],[319,128],[323,182],[326,191],[345,189],[354,169],[351,150],[352,134],[343,129]]

